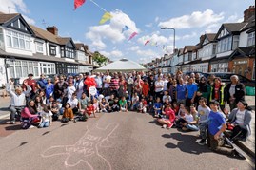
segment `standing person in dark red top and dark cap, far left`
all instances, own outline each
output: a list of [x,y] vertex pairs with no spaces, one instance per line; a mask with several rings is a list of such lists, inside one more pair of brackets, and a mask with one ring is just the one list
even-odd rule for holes
[[27,102],[29,102],[30,99],[33,99],[33,98],[34,98],[34,96],[35,96],[35,94],[36,94],[36,91],[37,91],[37,84],[36,84],[36,81],[33,80],[33,74],[30,73],[30,74],[28,75],[28,77],[29,77],[29,78],[28,78],[28,79],[25,79],[25,80],[23,81],[23,84],[22,84],[22,88],[23,88],[24,91],[26,91],[26,90],[28,89],[27,86],[24,84],[25,82],[27,82],[28,85],[30,85],[30,87],[32,88],[32,90],[30,91],[30,94],[27,94],[27,95],[26,95],[26,101],[27,101]]

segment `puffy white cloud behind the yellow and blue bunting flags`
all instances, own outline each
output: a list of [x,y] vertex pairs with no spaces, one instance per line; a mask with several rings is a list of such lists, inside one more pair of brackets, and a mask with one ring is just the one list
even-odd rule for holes
[[[138,28],[136,28],[136,24],[126,13],[123,13],[120,10],[115,10],[110,13],[113,18],[110,20],[109,24],[90,27],[89,32],[86,33],[86,38],[92,42],[93,46],[99,42],[104,44],[104,40],[108,40],[113,44],[119,43],[126,40],[133,31],[140,31]],[[122,33],[122,28],[125,26],[128,26],[129,29]],[[96,41],[96,43],[94,43],[94,41]]]

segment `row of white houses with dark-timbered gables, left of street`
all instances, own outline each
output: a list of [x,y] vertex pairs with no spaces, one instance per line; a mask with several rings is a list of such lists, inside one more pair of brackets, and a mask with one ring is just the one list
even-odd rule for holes
[[[70,37],[60,37],[56,27],[44,30],[29,25],[19,13],[1,12],[0,86],[10,78],[19,78],[22,82],[29,73],[38,78],[42,73],[89,72],[92,54],[85,47],[76,47]],[[91,63],[87,61],[89,58]]]

